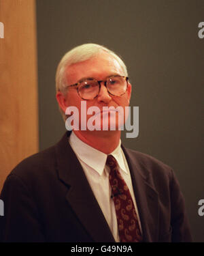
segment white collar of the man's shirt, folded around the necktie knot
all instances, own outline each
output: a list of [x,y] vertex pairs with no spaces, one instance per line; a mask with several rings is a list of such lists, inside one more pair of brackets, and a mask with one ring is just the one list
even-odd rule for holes
[[[86,165],[92,167],[92,169],[97,171],[99,175],[102,175],[105,168],[105,162],[107,160],[107,154],[96,150],[94,147],[90,147],[90,145],[81,141],[74,132],[71,132],[69,143],[80,160],[85,162]],[[121,141],[111,155],[116,158],[120,169],[127,173],[122,154]]]

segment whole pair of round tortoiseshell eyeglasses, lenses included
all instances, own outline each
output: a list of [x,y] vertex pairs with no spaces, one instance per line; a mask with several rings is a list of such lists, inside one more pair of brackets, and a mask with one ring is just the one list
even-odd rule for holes
[[97,81],[96,79],[84,79],[74,85],[68,87],[76,87],[79,96],[83,100],[93,100],[99,95],[101,83],[104,82],[107,91],[112,96],[122,96],[128,87],[127,76],[109,76],[105,81]]

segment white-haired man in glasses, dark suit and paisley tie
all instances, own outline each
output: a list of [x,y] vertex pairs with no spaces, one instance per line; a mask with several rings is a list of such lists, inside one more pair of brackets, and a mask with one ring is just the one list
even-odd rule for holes
[[[121,119],[114,109],[125,109],[130,98],[126,66],[112,51],[84,44],[63,57],[56,72],[61,113],[66,120],[67,108],[74,106],[81,117],[86,102],[87,109],[99,109],[97,128],[84,128],[82,119],[88,124],[93,116],[86,112],[73,132],[10,173],[1,193],[2,241],[191,241],[184,198],[171,168],[120,143],[126,116]],[[105,106],[112,109],[104,113]]]

